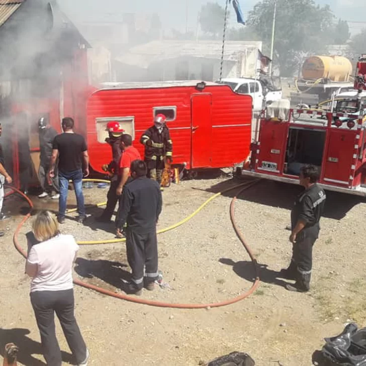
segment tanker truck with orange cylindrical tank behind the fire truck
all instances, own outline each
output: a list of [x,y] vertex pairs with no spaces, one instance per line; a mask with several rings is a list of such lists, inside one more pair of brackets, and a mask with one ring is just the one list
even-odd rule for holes
[[296,92],[291,93],[291,105],[314,106],[353,89],[352,63],[342,56],[310,56],[305,58],[295,79]]

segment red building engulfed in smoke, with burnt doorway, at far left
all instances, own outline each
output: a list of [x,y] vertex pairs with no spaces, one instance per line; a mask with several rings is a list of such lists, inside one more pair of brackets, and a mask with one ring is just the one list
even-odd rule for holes
[[15,187],[37,181],[39,117],[85,133],[88,47],[55,0],[0,0],[0,143]]

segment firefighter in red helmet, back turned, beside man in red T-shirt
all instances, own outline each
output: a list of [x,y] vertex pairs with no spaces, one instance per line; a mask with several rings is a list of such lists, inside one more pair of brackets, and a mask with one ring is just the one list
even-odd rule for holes
[[103,214],[96,219],[98,222],[109,223],[112,219],[114,210],[116,208],[119,197],[117,196],[117,188],[119,181],[121,180],[119,163],[121,160],[121,135],[125,132],[118,122],[108,122],[107,129],[109,137],[106,138],[106,142],[112,148],[112,161],[109,164],[104,164],[102,169],[108,172],[111,177],[111,185],[107,194],[107,206]]

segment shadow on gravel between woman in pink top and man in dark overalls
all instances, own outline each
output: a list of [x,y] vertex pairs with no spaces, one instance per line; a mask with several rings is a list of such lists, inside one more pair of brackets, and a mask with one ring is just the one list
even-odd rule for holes
[[110,260],[91,260],[76,258],[75,272],[86,279],[99,279],[103,282],[116,287],[123,288],[123,281],[131,280],[131,273],[124,268],[127,264],[113,262]]

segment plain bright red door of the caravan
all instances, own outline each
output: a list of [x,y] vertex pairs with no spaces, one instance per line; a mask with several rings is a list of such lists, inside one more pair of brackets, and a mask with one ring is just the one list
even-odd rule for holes
[[212,95],[192,96],[192,167],[210,167],[212,162]]

